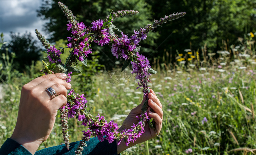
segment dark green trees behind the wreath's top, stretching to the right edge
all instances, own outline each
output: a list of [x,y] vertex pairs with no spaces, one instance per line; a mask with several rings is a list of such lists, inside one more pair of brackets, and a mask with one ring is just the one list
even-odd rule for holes
[[[175,21],[158,26],[148,34],[146,40],[141,41],[143,55],[153,62],[158,59],[159,64],[173,62],[176,50],[182,53],[190,48],[201,55],[201,49],[206,45],[207,52],[223,50],[223,41],[227,48],[237,43],[237,37],[244,33],[256,31],[256,1],[255,0],[81,0],[62,1],[71,9],[77,20],[90,26],[93,20],[104,19],[109,11],[115,7],[117,10],[138,10],[139,13],[131,16],[116,18],[113,24],[126,34],[132,34],[133,29],[152,24],[153,19],[159,20],[165,15],[175,12],[187,12],[187,15]],[[44,0],[44,4],[38,10],[38,15],[49,19],[46,30],[53,33],[51,40],[59,40],[70,35],[66,30],[67,20],[63,12],[57,6],[57,0]],[[115,32],[118,34],[119,32]],[[161,35],[161,36],[160,36]],[[100,52],[102,64],[108,64],[108,69],[114,67],[115,58],[110,52],[110,46],[95,48]],[[226,49],[225,49],[226,50]],[[166,54],[165,51],[170,53]],[[106,57],[107,56],[107,57]],[[168,61],[164,60],[167,57]],[[154,65],[154,64],[153,64]]]

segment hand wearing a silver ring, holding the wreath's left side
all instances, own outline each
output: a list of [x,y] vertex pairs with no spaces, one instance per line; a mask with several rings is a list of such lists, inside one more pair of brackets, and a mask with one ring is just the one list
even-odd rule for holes
[[[47,140],[58,109],[67,103],[67,90],[71,84],[65,81],[66,77],[61,73],[41,76],[21,89],[17,123],[10,138],[32,154]],[[55,90],[55,98],[46,90],[48,87]]]

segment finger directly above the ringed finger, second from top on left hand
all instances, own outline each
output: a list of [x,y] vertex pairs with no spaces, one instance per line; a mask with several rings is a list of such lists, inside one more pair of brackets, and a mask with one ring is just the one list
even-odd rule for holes
[[54,84],[61,84],[61,85],[65,86],[65,88],[67,90],[71,88],[70,83],[66,82],[65,80],[58,79],[58,78],[51,78],[51,79],[44,80],[43,82],[38,84],[36,87],[37,87],[38,90],[43,92],[47,88],[51,87]]

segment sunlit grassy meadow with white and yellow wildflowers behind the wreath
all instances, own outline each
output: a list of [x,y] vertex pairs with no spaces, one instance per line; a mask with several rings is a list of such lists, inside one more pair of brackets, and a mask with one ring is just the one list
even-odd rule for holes
[[[122,154],[255,154],[255,43],[252,36],[240,41],[239,46],[217,51],[218,56],[186,49],[185,54],[173,54],[174,66],[155,65],[154,70],[161,71],[151,76],[149,87],[163,105],[163,128],[158,137]],[[6,58],[7,66],[8,62]],[[38,75],[31,68],[26,74],[4,69],[8,76],[1,84],[0,145],[15,127],[22,85]],[[109,82],[109,71],[94,76],[96,95],[87,96],[87,106],[94,116],[104,115],[120,126],[141,103],[143,93],[136,90],[135,77],[125,75],[131,68],[113,70],[121,73],[115,84]],[[76,90],[78,77],[72,83]],[[80,125],[74,119],[69,122],[71,142],[81,140],[85,127]],[[49,139],[39,149],[63,143],[61,131],[58,114]]]

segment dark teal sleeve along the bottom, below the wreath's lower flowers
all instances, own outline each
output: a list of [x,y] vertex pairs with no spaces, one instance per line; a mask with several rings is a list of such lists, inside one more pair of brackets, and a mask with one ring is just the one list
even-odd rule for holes
[[[36,151],[35,155],[74,155],[79,142],[70,143],[69,150],[63,144]],[[108,143],[107,140],[100,142],[98,138],[94,137],[90,138],[86,145],[87,147],[82,151],[83,155],[117,155],[116,141],[112,143]]]

